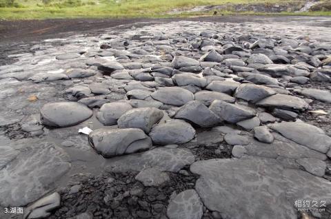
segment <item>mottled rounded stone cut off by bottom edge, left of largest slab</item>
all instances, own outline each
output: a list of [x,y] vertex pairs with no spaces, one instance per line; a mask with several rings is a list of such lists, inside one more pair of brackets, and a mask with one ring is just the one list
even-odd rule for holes
[[188,189],[170,200],[167,216],[170,219],[201,219],[203,204],[197,191]]

